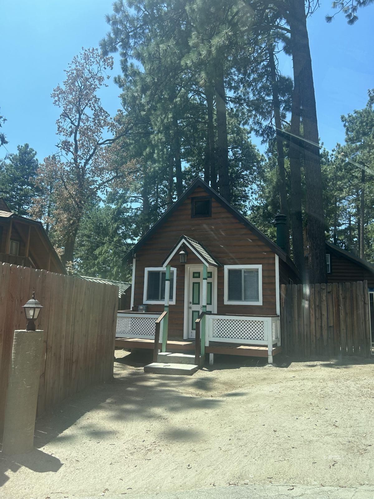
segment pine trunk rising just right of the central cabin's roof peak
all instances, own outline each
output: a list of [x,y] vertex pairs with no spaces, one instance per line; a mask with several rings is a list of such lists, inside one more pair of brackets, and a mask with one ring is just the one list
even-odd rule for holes
[[228,176],[228,145],[226,121],[226,94],[224,87],[223,64],[217,64],[215,78],[215,107],[217,111],[217,167],[219,194],[230,202],[230,186]]

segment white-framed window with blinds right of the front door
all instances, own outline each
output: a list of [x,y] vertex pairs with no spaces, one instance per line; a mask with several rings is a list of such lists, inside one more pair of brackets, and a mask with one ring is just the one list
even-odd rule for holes
[[224,302],[262,304],[262,265],[225,265]]

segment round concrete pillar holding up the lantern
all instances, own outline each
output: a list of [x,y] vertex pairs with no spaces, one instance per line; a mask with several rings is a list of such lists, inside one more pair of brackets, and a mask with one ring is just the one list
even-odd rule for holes
[[5,402],[2,452],[23,454],[34,447],[43,331],[14,331]]

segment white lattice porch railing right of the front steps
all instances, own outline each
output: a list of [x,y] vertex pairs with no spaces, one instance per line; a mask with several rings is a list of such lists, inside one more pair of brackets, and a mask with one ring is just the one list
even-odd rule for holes
[[[205,344],[209,341],[251,345],[280,344],[279,317],[248,317],[245,315],[206,315]],[[271,335],[269,337],[269,335]]]

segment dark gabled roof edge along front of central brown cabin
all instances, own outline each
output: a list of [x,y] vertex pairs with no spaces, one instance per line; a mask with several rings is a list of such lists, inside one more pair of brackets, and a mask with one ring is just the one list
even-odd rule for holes
[[270,250],[274,251],[283,261],[285,261],[292,270],[300,276],[300,272],[291,258],[283,251],[279,246],[277,246],[271,239],[265,236],[259,229],[257,229],[253,224],[247,220],[244,215],[239,213],[235,208],[233,208],[225,199],[222,198],[217,192],[214,191],[208,184],[206,184],[200,178],[195,179],[192,184],[187,188],[187,190],[182,194],[182,196],[167,210],[164,215],[154,224],[151,229],[138,241],[138,243],[130,250],[126,256],[125,260],[128,260],[132,255],[136,253],[136,251],[141,248],[144,243],[146,243],[158,230],[158,228],[166,222],[169,217],[173,215],[173,213],[177,210],[177,208],[193,193],[193,191],[197,188],[201,187],[206,191],[212,198],[215,199],[221,206],[223,206],[231,215],[233,215],[240,223],[242,223],[247,229],[249,229],[253,234],[255,234],[260,241],[262,241],[265,245],[267,245]]

